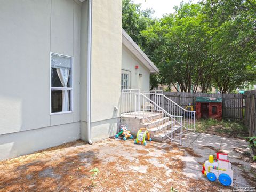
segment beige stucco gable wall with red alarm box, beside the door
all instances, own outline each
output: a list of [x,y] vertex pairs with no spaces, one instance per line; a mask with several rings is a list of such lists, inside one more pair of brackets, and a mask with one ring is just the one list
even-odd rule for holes
[[[136,65],[139,66],[138,69],[135,69]],[[149,69],[125,45],[122,45],[122,69],[131,71],[131,89],[149,90]],[[140,73],[142,77],[139,77]]]

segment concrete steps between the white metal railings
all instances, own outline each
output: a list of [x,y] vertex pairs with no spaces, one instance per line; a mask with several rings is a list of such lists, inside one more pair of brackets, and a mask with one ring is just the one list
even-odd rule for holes
[[150,116],[150,121],[142,119],[144,123],[140,123],[140,128],[147,128],[151,139],[157,142],[169,139],[167,135],[172,138],[172,134],[174,136],[175,131],[180,128],[175,121],[171,122],[169,117],[164,117],[161,113]]

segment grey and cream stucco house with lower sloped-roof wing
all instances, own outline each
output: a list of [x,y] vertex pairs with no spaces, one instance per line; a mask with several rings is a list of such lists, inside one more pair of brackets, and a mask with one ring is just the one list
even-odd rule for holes
[[121,0],[1,1],[0,23],[0,160],[115,135],[121,89],[158,72],[122,30]]

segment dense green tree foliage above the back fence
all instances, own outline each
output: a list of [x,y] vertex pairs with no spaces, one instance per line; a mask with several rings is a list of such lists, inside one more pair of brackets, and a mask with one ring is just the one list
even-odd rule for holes
[[159,68],[151,89],[178,83],[181,92],[231,93],[256,81],[255,8],[255,0],[182,2],[153,19],[152,10],[123,0],[122,26]]

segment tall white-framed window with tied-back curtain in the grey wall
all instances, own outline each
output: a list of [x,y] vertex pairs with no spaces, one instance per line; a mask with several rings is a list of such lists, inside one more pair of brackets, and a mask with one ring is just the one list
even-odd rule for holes
[[51,114],[73,111],[73,57],[51,53]]

